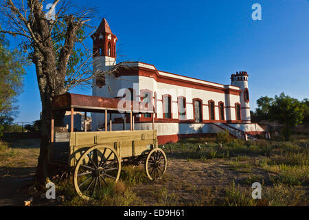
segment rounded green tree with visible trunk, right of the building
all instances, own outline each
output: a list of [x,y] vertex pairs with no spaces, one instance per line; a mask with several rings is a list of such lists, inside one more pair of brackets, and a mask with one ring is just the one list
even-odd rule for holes
[[289,140],[292,129],[302,123],[304,111],[305,107],[302,102],[282,92],[279,96],[275,96],[267,114],[271,120],[276,120],[283,125],[284,137]]

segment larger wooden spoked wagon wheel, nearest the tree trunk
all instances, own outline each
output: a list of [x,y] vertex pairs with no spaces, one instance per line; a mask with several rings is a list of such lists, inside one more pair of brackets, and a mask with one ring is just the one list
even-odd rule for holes
[[118,181],[120,170],[121,160],[113,148],[93,146],[80,157],[76,165],[76,192],[84,199],[98,197],[104,186]]

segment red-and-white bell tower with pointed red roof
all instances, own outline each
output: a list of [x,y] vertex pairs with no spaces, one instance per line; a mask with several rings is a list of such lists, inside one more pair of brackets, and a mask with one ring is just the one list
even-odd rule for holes
[[[117,37],[111,32],[106,19],[102,19],[91,38],[93,39],[93,73],[98,70],[106,72],[116,64],[117,41]],[[105,84],[104,76],[93,79],[93,87],[102,88]],[[93,93],[95,95],[94,91]]]

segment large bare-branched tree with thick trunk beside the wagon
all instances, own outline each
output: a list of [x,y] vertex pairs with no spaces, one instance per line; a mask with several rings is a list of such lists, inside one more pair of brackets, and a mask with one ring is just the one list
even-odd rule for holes
[[[83,40],[88,36],[85,30],[89,35],[94,30],[87,22],[94,17],[95,8],[80,9],[70,1],[56,0],[46,14],[43,3],[43,0],[3,0],[0,3],[1,32],[20,36],[21,47],[36,67],[42,102],[42,139],[35,178],[38,186],[43,186],[49,171],[47,153],[52,98],[77,85],[88,84],[95,76],[115,71],[93,73],[91,70],[92,50],[87,49]],[[77,44],[80,47],[74,49]],[[55,126],[62,126],[63,113],[55,117]]]

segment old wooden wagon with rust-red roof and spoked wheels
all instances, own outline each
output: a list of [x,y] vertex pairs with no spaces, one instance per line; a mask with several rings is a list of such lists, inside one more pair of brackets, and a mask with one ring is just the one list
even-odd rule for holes
[[[52,116],[49,163],[73,168],[74,187],[84,199],[98,196],[104,186],[117,182],[124,162],[144,163],[149,179],[161,178],[165,173],[167,159],[164,151],[158,147],[153,118],[152,130],[135,131],[134,126],[135,115],[154,115],[153,107],[134,101],[121,104],[121,101],[117,98],[69,93],[53,99],[52,115],[56,111],[71,111],[71,129],[67,133],[54,133]],[[73,131],[74,111],[84,112],[84,131]],[[108,114],[111,118],[111,114],[119,111],[125,112],[130,118],[130,130],[113,131],[112,120],[107,122]],[[87,112],[104,113],[104,131],[87,131]]]

